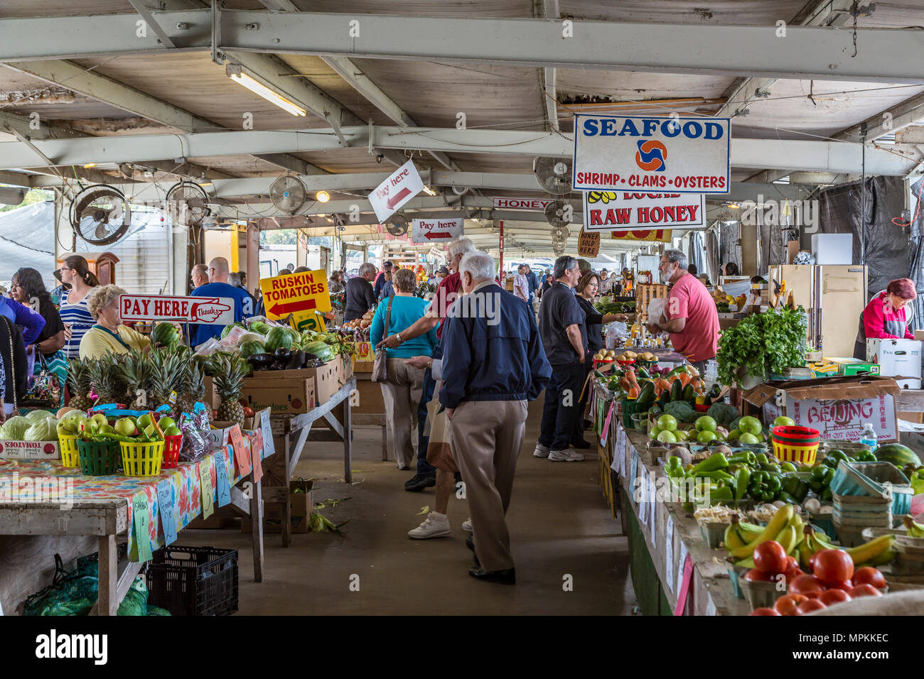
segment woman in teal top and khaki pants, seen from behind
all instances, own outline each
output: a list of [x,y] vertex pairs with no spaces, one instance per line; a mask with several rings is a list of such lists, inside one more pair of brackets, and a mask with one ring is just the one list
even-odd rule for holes
[[[399,269],[392,275],[395,297],[386,297],[375,309],[370,326],[371,346],[378,345],[385,334],[400,334],[407,330],[426,312],[430,302],[416,297],[417,277],[410,269]],[[391,305],[392,313],[385,333],[385,313]],[[388,379],[382,382],[382,397],[385,402],[385,418],[388,425],[388,447],[395,455],[399,469],[416,464],[414,440],[417,438],[417,406],[423,391],[423,369],[405,363],[405,358],[430,356],[436,346],[436,329],[407,340],[396,349],[386,351]]]

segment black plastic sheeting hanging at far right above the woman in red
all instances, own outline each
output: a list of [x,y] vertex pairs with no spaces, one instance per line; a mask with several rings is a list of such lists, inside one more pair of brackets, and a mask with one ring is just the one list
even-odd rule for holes
[[[917,190],[915,191],[917,195]],[[866,215],[860,219],[860,183],[852,182],[827,188],[819,195],[822,234],[853,234],[853,261],[868,267],[869,298],[880,293],[895,278],[912,278],[922,291],[920,266],[917,276],[909,276],[909,251],[920,257],[920,236],[909,244],[903,227],[894,224],[905,209],[905,182],[897,176],[872,176],[866,180]],[[919,224],[919,222],[918,222]],[[920,227],[918,226],[918,229]],[[862,258],[861,243],[865,242],[866,257]],[[915,309],[915,322],[922,319]]]

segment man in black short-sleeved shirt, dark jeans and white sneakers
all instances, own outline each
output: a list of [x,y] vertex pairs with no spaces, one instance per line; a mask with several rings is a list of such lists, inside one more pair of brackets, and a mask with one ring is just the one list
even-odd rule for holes
[[580,462],[584,455],[570,443],[578,438],[577,400],[584,386],[587,328],[574,286],[580,278],[577,260],[555,260],[555,283],[542,295],[539,332],[545,356],[552,364],[552,380],[545,387],[539,442],[533,455],[553,462]]

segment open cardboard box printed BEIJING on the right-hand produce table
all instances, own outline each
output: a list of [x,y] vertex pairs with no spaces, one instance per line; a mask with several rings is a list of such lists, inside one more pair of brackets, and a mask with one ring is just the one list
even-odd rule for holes
[[744,394],[761,409],[764,422],[785,416],[800,427],[821,432],[822,439],[859,441],[871,422],[881,442],[898,440],[895,397],[899,386],[883,377],[829,377],[766,382]]

